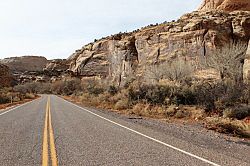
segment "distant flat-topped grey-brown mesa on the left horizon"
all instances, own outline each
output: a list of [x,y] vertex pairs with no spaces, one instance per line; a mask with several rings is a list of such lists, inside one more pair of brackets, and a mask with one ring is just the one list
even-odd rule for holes
[[40,56],[22,56],[5,58],[0,63],[8,66],[13,72],[42,71],[48,60]]

